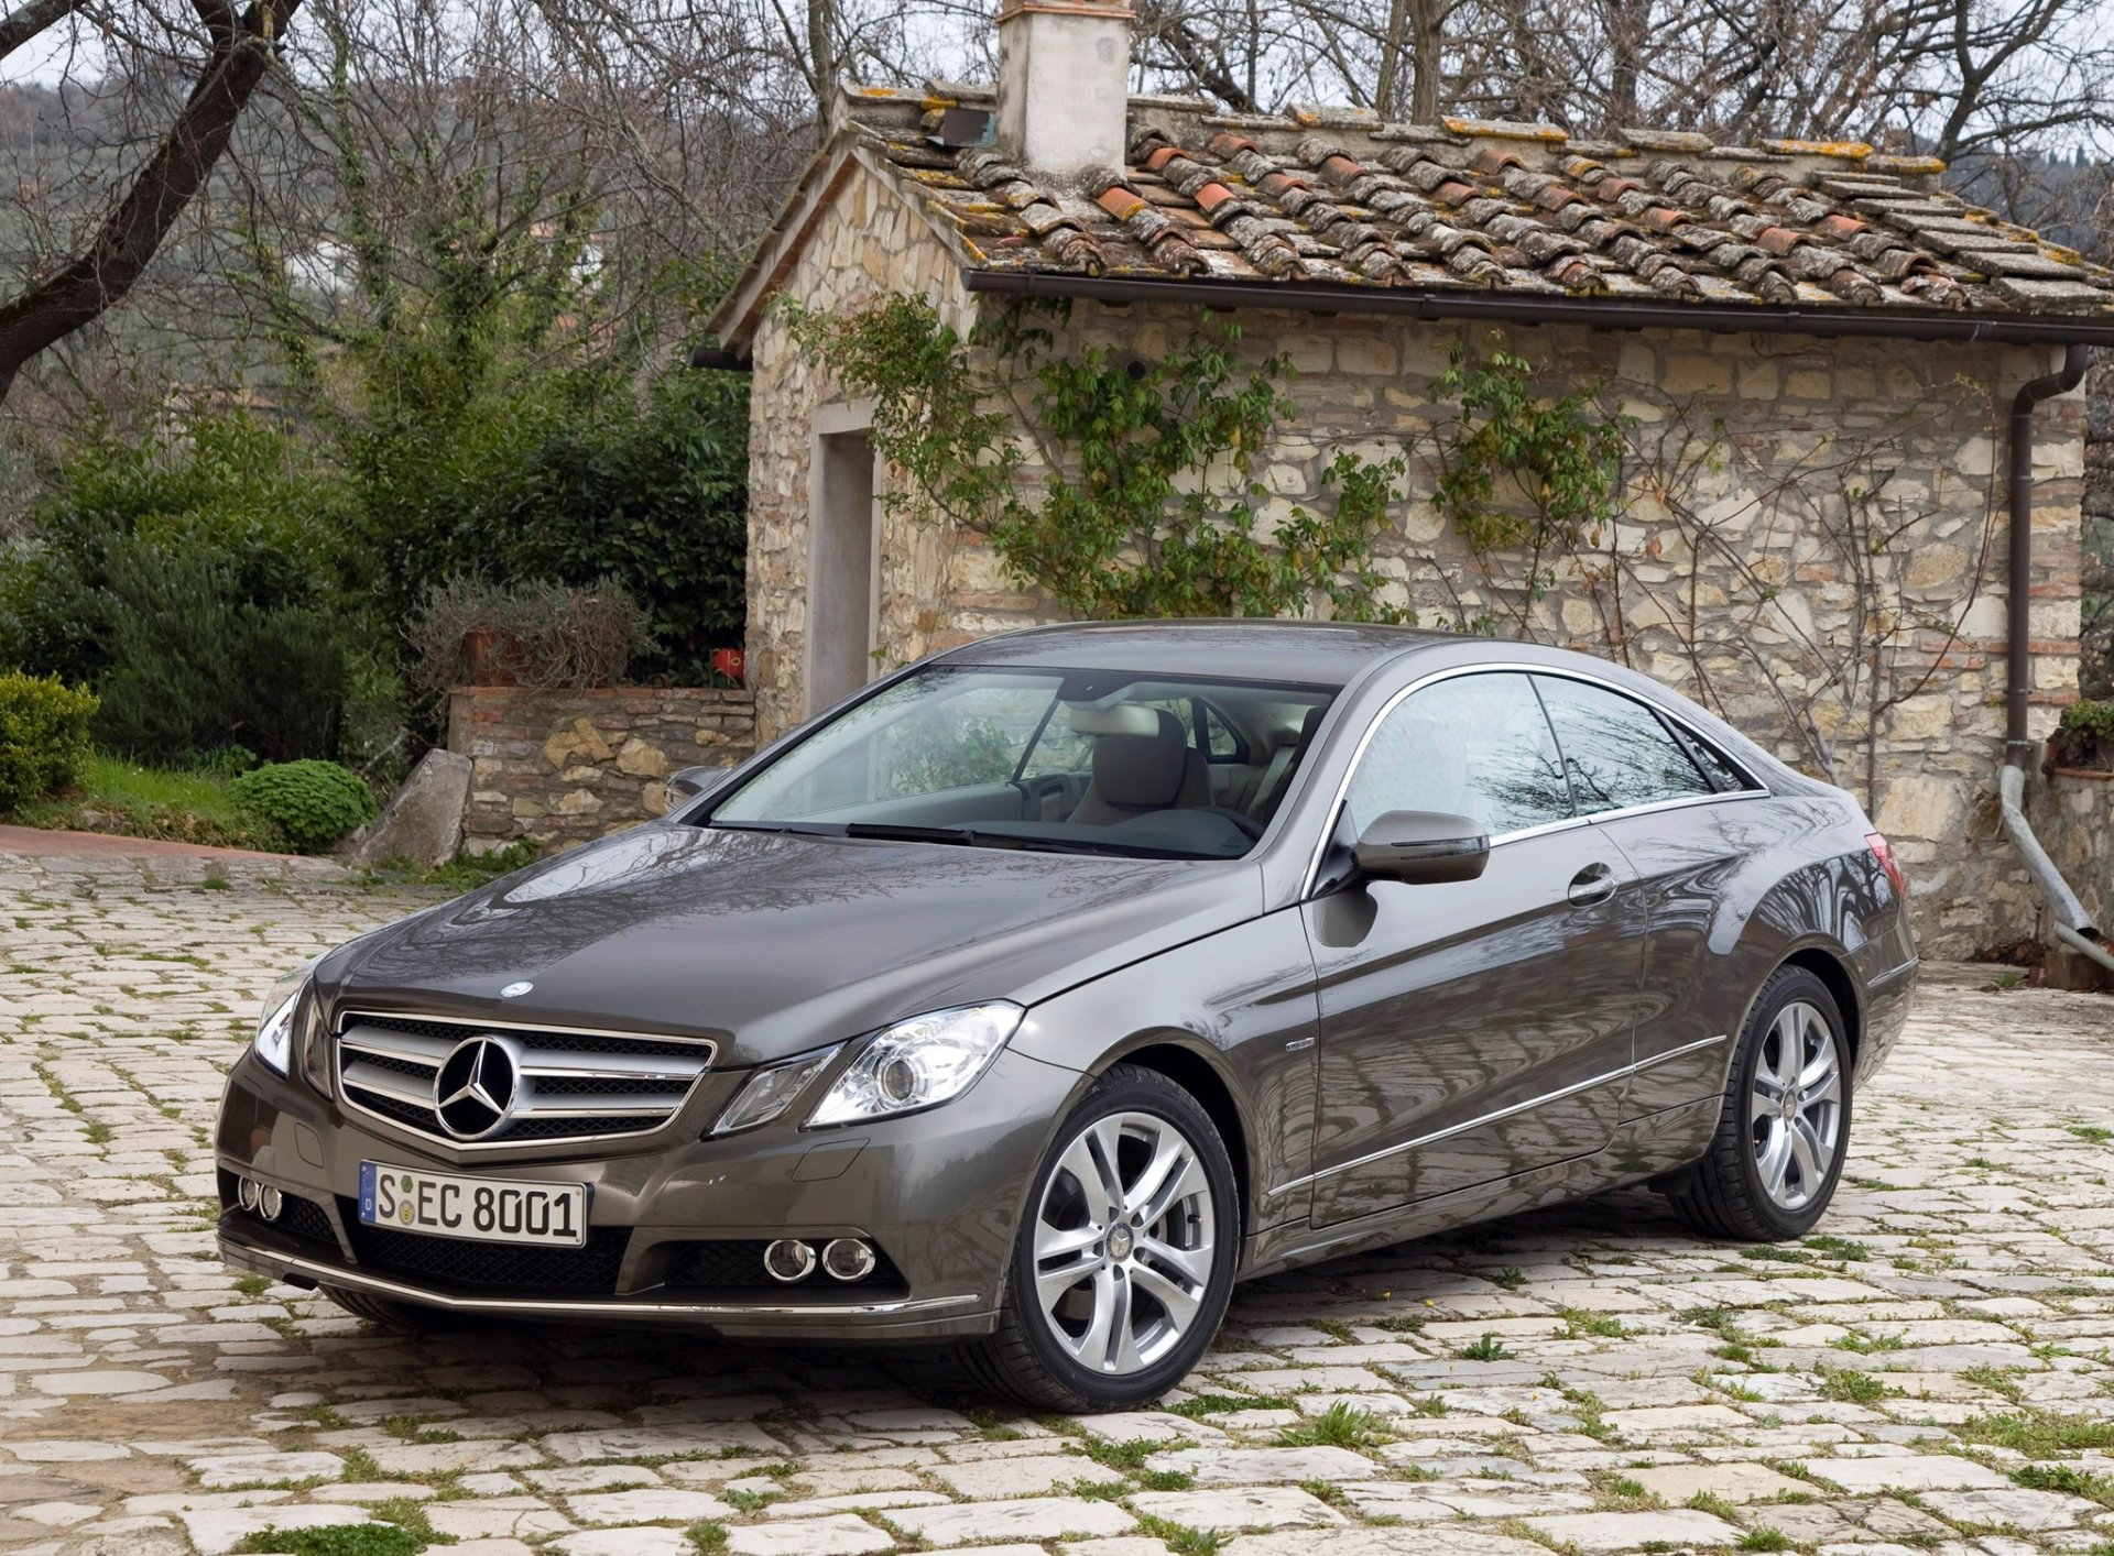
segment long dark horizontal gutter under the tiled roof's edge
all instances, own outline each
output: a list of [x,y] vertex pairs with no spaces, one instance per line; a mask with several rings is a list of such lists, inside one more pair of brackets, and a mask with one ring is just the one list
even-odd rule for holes
[[1512,296],[1406,288],[1300,285],[1273,281],[1154,281],[1059,271],[977,271],[968,292],[994,298],[1169,302],[1199,309],[1283,309],[1376,313],[1410,319],[1579,323],[1594,330],[1710,330],[1717,334],[1877,336],[1898,340],[1983,340],[1991,345],[2114,347],[2114,317],[1951,313],[1943,309],[1784,307],[1767,302],[1643,302],[1632,298]]

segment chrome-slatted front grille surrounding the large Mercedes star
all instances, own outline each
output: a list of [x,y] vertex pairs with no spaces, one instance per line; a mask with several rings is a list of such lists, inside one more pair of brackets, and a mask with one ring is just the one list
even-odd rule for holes
[[[490,1112],[476,1104],[450,1110],[459,1127],[450,1129],[435,1104],[442,1068],[471,1038],[497,1042],[514,1082],[512,1106],[497,1129],[484,1129]],[[347,1015],[338,1025],[336,1066],[340,1093],[353,1108],[459,1146],[516,1146],[660,1129],[712,1066],[712,1053],[715,1044],[704,1038]],[[450,1072],[455,1085],[457,1072]]]

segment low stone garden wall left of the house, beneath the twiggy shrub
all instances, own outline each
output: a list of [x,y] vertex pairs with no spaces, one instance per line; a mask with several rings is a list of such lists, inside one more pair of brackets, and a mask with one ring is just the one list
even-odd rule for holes
[[700,687],[463,687],[448,751],[471,761],[463,848],[531,837],[569,848],[668,812],[676,767],[731,767],[755,751],[748,691]]

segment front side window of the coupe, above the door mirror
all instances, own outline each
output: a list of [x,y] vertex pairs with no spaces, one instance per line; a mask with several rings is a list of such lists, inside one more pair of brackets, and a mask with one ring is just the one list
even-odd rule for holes
[[1524,674],[1463,674],[1397,704],[1345,797],[1366,831],[1391,810],[1467,816],[1490,837],[1571,818],[1556,736]]

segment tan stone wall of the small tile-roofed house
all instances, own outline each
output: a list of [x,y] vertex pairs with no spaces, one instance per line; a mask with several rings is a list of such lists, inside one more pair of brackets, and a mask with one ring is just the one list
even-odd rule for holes
[[[784,279],[812,307],[922,292],[966,334],[977,300],[920,218],[863,169]],[[2019,347],[1615,332],[1573,326],[1243,311],[1243,353],[1296,370],[1298,421],[1266,450],[1264,520],[1325,510],[1338,448],[1408,452],[1391,596],[1427,626],[1476,624],[1624,660],[1852,789],[1917,882],[1930,953],[2032,932],[2025,873],[1996,831],[2004,693],[2004,412],[2059,353]],[[1080,302],[1072,336],[1154,359],[1197,328],[1158,304]],[[1626,520],[1554,560],[1478,558],[1431,501],[1433,381],[1450,353],[1526,357],[1547,391],[1598,387],[1634,416]],[[748,662],[759,736],[810,708],[801,687],[812,414],[843,395],[776,321],[755,340]],[[2084,400],[2040,410],[2034,507],[2034,729],[2076,698]],[[1036,465],[1023,480],[1036,478]],[[1053,617],[975,533],[882,520],[879,643],[890,662]],[[822,609],[829,609],[824,603]],[[856,603],[854,609],[865,609]]]

